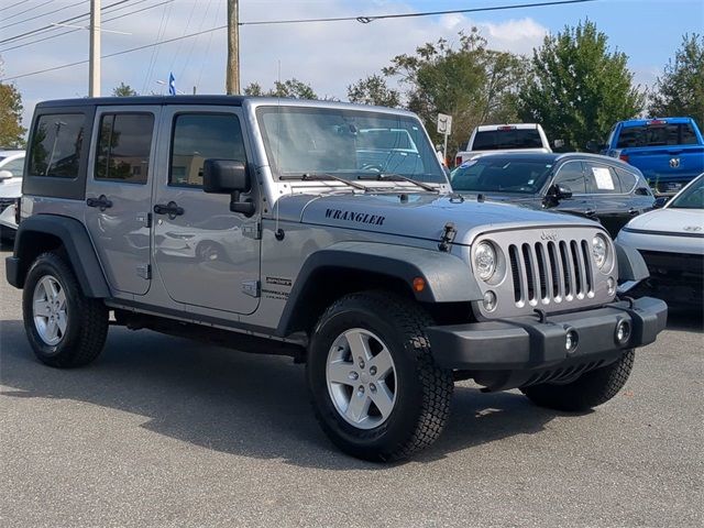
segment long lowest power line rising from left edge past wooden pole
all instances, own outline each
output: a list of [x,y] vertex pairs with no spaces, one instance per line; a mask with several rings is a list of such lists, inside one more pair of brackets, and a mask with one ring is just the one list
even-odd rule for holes
[[[240,25],[264,25],[264,24],[282,24],[282,23],[306,23],[306,22],[341,22],[341,21],[352,21],[352,20],[355,20],[358,22],[366,24],[366,23],[372,22],[374,20],[383,20],[383,19],[398,19],[398,18],[407,18],[407,16],[430,16],[430,15],[437,15],[437,14],[471,13],[471,12],[479,12],[479,11],[504,11],[504,10],[508,10],[508,9],[540,8],[540,7],[548,7],[548,6],[561,6],[561,4],[569,4],[569,3],[585,3],[585,2],[595,2],[595,1],[597,1],[597,0],[558,0],[558,1],[550,1],[550,2],[535,2],[535,3],[522,3],[522,4],[510,4],[510,6],[496,6],[496,7],[493,7],[493,8],[473,8],[473,9],[460,9],[460,10],[451,10],[451,11],[432,11],[432,12],[422,12],[422,13],[381,14],[381,15],[375,15],[375,16],[345,16],[345,18],[334,18],[334,19],[300,19],[300,20],[292,20],[292,21],[240,22]],[[118,3],[121,3],[121,2],[118,2]],[[360,20],[360,19],[363,19],[363,20]],[[108,55],[102,55],[100,58],[110,58],[110,57],[116,57],[118,55],[124,55],[124,54],[128,54],[128,53],[139,52],[141,50],[146,50],[148,47],[161,46],[163,44],[168,44],[168,43],[172,43],[172,42],[180,41],[183,38],[193,38],[194,36],[202,35],[205,33],[210,33],[210,32],[213,32],[213,31],[224,30],[227,28],[228,28],[227,24],[226,25],[219,25],[217,28],[211,28],[209,30],[199,31],[199,32],[196,32],[196,33],[191,33],[189,35],[176,36],[174,38],[168,38],[166,41],[154,42],[152,44],[145,44],[143,46],[131,47],[129,50],[122,50],[120,52],[110,53]],[[77,62],[70,63],[70,64],[63,64],[61,66],[54,66],[52,68],[45,68],[45,69],[41,69],[41,70],[37,70],[37,72],[30,72],[30,73],[26,73],[26,74],[14,75],[12,77],[6,77],[6,78],[0,79],[0,80],[8,81],[8,80],[22,79],[24,77],[31,77],[31,76],[40,75],[40,74],[46,74],[48,72],[55,72],[57,69],[70,68],[73,66],[78,66],[80,64],[86,64],[86,63],[88,63],[88,61],[77,61]]]

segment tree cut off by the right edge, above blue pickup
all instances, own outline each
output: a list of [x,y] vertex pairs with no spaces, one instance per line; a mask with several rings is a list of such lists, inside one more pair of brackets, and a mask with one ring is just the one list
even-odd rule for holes
[[704,127],[704,36],[684,35],[658,77],[650,98],[650,116],[689,116]]

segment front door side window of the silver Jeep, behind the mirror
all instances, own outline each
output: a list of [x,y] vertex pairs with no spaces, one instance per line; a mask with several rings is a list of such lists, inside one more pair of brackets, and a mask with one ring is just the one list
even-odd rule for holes
[[176,116],[168,185],[202,186],[202,164],[208,158],[246,162],[238,117],[231,113]]

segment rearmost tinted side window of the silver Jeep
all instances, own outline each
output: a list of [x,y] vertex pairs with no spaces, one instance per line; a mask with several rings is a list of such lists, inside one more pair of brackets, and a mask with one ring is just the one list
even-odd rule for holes
[[86,117],[78,113],[40,116],[30,145],[30,174],[78,177]]

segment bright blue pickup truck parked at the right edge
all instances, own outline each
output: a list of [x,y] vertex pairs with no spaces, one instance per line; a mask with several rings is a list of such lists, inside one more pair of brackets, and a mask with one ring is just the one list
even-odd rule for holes
[[704,172],[704,138],[691,118],[620,121],[602,153],[638,167],[658,194],[673,195]]

